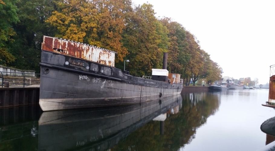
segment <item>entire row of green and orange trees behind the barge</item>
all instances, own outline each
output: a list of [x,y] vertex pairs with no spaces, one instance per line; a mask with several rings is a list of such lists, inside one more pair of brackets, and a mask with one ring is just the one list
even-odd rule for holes
[[[162,68],[194,82],[220,78],[220,67],[196,37],[171,18],[156,18],[149,3],[131,0],[0,0],[0,64],[39,72],[43,36],[62,37],[114,50],[116,67],[134,76]],[[3,17],[2,17],[3,16]]]

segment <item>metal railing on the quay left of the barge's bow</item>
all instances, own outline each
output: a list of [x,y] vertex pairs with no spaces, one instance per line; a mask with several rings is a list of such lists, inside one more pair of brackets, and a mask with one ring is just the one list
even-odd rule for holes
[[0,71],[0,74],[1,74],[0,82],[1,82],[2,88],[4,87],[4,82],[8,82],[9,87],[25,87],[28,85],[40,84],[40,74],[22,72],[20,73],[22,74],[22,76],[20,76],[18,75],[18,72],[1,72],[1,71]]

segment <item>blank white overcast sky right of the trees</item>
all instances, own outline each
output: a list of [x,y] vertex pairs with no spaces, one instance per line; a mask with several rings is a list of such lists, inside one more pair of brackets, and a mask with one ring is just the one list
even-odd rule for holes
[[[170,17],[194,34],[223,76],[269,82],[275,64],[275,1],[132,0],[150,3],[158,17]],[[168,54],[169,55],[169,54]]]

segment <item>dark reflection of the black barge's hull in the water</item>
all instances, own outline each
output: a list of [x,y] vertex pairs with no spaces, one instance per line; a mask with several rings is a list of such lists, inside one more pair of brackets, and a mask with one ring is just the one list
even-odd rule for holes
[[127,106],[44,112],[38,150],[103,151],[160,114],[176,113],[181,103],[181,95],[175,95]]

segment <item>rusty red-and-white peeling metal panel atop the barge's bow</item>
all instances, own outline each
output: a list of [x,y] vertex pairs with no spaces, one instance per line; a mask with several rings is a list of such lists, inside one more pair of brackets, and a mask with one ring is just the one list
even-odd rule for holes
[[116,52],[71,40],[44,36],[41,49],[107,66],[115,66]]

